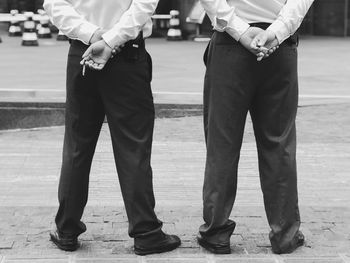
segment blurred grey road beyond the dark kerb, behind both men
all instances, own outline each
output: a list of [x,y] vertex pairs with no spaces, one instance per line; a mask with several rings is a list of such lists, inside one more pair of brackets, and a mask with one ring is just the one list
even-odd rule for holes
[[[20,38],[2,35],[0,97],[3,100],[63,101],[68,42],[40,40],[22,47]],[[148,39],[153,57],[153,91],[159,103],[202,101],[207,43]],[[303,104],[350,101],[350,38],[304,37],[299,47]]]

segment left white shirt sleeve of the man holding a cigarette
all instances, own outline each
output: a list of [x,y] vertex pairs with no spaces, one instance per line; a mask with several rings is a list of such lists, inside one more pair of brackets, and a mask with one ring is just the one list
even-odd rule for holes
[[70,0],[45,0],[44,9],[51,22],[66,36],[89,44],[98,26],[88,22],[72,6]]

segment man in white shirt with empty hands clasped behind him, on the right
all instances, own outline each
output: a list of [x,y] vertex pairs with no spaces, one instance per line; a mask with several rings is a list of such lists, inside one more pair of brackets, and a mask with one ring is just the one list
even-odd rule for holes
[[[297,194],[295,34],[313,0],[201,0],[215,33],[204,59],[207,160],[198,242],[230,253],[237,167],[250,112],[274,253],[304,243]],[[276,47],[279,46],[278,49]],[[274,51],[274,52],[273,52]]]

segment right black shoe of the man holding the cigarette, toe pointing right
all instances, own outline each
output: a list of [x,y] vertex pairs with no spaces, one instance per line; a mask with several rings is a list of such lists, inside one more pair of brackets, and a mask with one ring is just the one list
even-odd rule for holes
[[134,246],[135,254],[145,256],[148,254],[163,253],[174,250],[181,245],[181,240],[178,236],[161,233],[159,238],[153,242],[140,242],[139,240],[135,243],[138,243]]

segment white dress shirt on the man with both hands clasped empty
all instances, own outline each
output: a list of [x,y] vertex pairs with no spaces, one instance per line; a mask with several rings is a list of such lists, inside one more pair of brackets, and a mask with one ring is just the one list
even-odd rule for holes
[[270,23],[279,43],[295,33],[314,0],[201,0],[213,27],[237,41],[250,23]]

